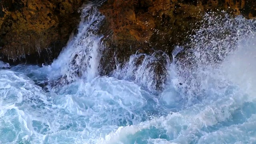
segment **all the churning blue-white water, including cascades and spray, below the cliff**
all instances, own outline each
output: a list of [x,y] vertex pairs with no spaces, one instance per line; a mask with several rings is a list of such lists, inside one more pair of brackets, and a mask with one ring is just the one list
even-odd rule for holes
[[80,12],[51,65],[0,61],[0,143],[256,143],[254,20],[205,14],[191,42],[164,55],[168,77],[156,90],[154,54],[99,75],[104,16],[93,4]]

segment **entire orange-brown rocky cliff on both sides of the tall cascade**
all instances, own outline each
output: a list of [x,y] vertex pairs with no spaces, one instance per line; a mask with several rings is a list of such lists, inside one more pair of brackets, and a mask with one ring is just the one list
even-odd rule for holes
[[[86,0],[0,1],[0,58],[6,62],[51,62],[58,56],[80,21],[78,8]],[[106,0],[100,33],[106,49],[101,75],[122,66],[132,54],[153,54],[157,85],[165,79],[166,60],[176,45],[201,26],[205,12],[225,10],[231,16],[256,16],[253,0]],[[145,55],[135,59],[141,64]]]

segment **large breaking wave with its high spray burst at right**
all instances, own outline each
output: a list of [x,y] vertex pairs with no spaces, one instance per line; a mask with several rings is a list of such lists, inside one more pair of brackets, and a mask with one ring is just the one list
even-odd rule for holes
[[[221,18],[206,14],[205,25],[184,46],[185,56],[174,51],[170,85],[160,95],[160,104],[174,112],[120,127],[100,143],[256,142],[249,128],[256,113],[255,20]],[[155,128],[162,132],[158,137]]]

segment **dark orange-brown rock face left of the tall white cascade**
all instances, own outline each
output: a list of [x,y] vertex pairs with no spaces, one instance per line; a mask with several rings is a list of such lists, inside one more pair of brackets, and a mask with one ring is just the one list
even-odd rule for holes
[[78,8],[83,1],[0,1],[1,59],[7,62],[51,62],[80,21]]

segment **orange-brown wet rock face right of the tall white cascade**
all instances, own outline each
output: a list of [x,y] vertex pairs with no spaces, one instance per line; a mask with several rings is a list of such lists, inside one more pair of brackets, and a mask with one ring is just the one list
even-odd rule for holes
[[[106,16],[102,32],[108,35],[101,74],[116,69],[116,62],[125,64],[136,52],[161,50],[172,57],[174,46],[186,44],[200,28],[205,12],[225,10],[253,18],[255,7],[248,0],[108,0],[100,7]],[[162,61],[154,64],[158,85],[167,74]]]

